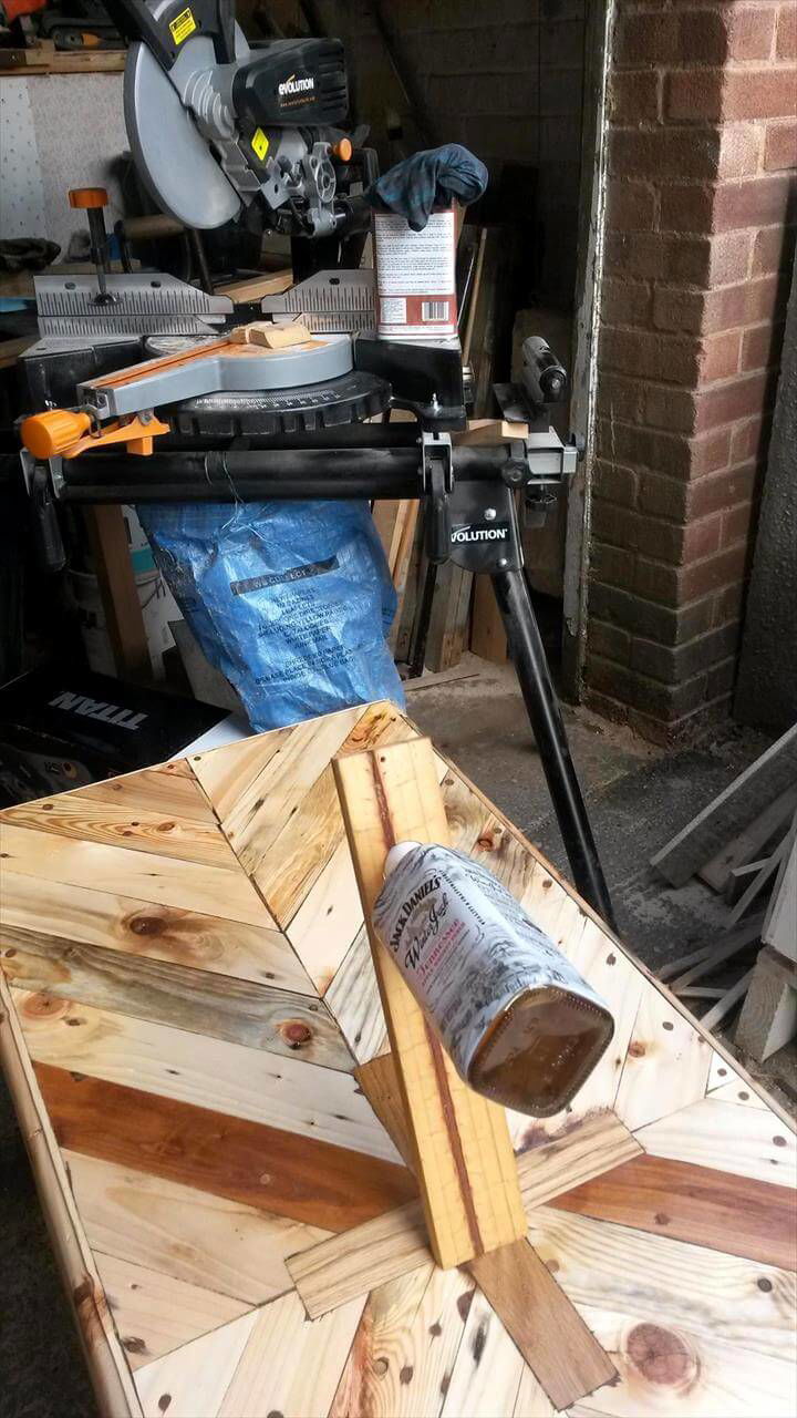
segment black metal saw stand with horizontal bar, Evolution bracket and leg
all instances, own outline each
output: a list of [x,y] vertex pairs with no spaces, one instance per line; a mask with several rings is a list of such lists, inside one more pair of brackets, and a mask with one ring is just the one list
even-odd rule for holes
[[[240,437],[216,450],[197,451],[194,444],[155,451],[149,458],[101,451],[74,459],[54,458],[50,478],[57,501],[84,505],[423,499],[430,564],[435,567],[451,557],[465,570],[492,580],[574,883],[614,927],[611,899],[523,576],[516,510],[519,496],[533,516],[545,516],[562,479],[574,472],[577,454],[574,447],[562,444],[542,413],[518,427],[523,437],[452,445],[448,432],[413,423],[353,423],[269,438]],[[425,607],[421,607],[421,640],[433,594],[434,574],[427,579]]]

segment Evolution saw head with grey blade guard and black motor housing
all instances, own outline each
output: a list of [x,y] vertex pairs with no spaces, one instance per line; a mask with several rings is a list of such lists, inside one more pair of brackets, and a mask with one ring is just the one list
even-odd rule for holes
[[349,108],[339,40],[250,47],[230,6],[211,0],[109,0],[109,10],[132,41],[125,121],[160,210],[213,228],[260,199],[269,225],[292,237],[355,228],[347,187],[369,164],[339,128]]

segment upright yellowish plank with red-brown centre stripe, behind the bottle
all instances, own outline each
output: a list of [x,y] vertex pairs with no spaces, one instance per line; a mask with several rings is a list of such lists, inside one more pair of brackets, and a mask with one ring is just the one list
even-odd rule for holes
[[[413,740],[340,759],[335,770],[367,916],[394,841],[448,841],[437,766],[428,740]],[[430,1238],[445,1269],[523,1225],[509,1133],[502,1112],[461,1083],[376,936],[372,949]]]

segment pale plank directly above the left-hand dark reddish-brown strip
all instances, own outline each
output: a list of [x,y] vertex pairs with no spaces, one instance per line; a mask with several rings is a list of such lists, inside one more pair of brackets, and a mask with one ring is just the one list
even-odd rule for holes
[[213,1099],[221,1113],[400,1161],[352,1073],[47,994],[13,995],[38,1064],[200,1107]]

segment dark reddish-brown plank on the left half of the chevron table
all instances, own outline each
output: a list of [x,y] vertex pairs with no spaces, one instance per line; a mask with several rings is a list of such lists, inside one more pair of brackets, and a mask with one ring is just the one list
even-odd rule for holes
[[61,1147],[326,1231],[417,1194],[411,1174],[347,1147],[37,1064]]

